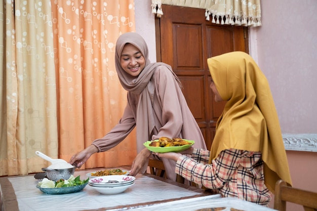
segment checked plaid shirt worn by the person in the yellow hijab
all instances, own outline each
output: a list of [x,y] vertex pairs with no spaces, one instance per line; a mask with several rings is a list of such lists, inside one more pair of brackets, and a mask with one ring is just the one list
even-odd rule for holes
[[223,150],[208,164],[209,151],[194,149],[192,157],[180,156],[175,172],[224,197],[237,197],[268,205],[271,193],[264,185],[261,152]]

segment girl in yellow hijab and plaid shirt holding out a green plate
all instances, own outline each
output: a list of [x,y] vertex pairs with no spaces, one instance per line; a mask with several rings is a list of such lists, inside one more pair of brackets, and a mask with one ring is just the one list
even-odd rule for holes
[[175,172],[214,189],[268,206],[276,181],[292,184],[278,114],[266,77],[244,52],[208,59],[215,101],[226,100],[211,150],[156,153],[177,161]]

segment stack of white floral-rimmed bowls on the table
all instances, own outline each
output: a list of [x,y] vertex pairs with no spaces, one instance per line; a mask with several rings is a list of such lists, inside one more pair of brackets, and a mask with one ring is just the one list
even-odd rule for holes
[[95,177],[88,184],[101,194],[122,193],[134,184],[135,177],[126,175],[110,175]]

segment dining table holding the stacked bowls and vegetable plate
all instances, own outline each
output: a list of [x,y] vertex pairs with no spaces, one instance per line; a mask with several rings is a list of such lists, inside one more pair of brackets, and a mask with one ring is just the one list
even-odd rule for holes
[[[115,168],[129,171],[128,166],[76,169],[74,177],[80,176],[81,180],[85,180],[92,172]],[[148,173],[136,175],[134,185],[120,194],[100,194],[89,185],[80,192],[46,194],[36,187],[42,180],[35,179],[34,176],[35,174],[0,177],[2,211],[125,210],[206,195],[213,198],[220,197],[219,194],[199,187],[181,184]]]

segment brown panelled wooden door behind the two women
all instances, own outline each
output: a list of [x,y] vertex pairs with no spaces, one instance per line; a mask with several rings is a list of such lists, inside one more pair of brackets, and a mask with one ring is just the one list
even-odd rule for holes
[[206,21],[205,10],[163,5],[155,18],[157,61],[173,67],[187,104],[210,149],[225,102],[216,103],[210,89],[207,59],[232,51],[248,53],[247,28]]

